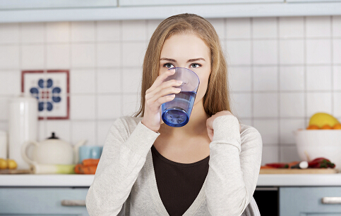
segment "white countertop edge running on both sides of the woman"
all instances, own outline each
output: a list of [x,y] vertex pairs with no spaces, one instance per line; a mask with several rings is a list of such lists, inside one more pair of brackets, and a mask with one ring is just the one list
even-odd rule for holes
[[[88,187],[93,174],[1,174],[0,186]],[[257,186],[341,186],[341,174],[260,174]]]

